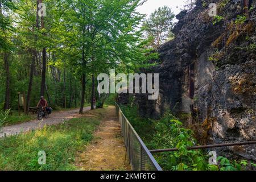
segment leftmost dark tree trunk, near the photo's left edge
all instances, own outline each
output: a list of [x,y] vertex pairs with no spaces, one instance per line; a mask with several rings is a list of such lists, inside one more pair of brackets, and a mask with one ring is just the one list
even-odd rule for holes
[[9,54],[5,53],[3,60],[5,61],[5,71],[6,71],[6,90],[5,90],[5,105],[3,109],[10,109],[10,69],[9,69]]

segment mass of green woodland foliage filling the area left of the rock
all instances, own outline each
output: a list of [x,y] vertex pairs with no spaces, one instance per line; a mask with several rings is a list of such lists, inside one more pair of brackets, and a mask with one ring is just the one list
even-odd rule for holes
[[[42,49],[47,48],[47,96],[52,107],[77,107],[81,101],[81,76],[86,76],[85,102],[90,100],[92,73],[136,72],[154,63],[158,53],[147,49],[139,25],[139,0],[44,0],[44,28],[36,19],[36,1],[2,0],[0,64],[10,53],[10,106],[18,109],[17,93],[27,97],[31,62],[35,59],[30,106],[40,98]],[[15,2],[15,3],[14,3]],[[14,28],[15,27],[15,28]],[[3,40],[2,40],[3,39]],[[89,81],[88,81],[89,80]],[[0,67],[0,104],[5,100],[6,71]],[[113,104],[113,102],[112,102]]]

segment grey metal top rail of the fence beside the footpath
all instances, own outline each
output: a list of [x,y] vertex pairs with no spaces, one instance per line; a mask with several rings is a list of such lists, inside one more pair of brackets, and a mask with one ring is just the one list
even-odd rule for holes
[[[154,166],[154,168],[157,171],[162,171],[162,168],[159,166],[158,162],[156,162],[154,156],[151,154],[151,152],[148,150],[148,148],[146,147],[146,145],[144,144],[143,140],[141,139],[141,137],[139,137],[138,133],[135,131],[134,127],[131,125],[131,123],[129,122],[129,120],[125,117],[125,115],[123,114],[121,108],[119,107],[119,105],[117,103],[115,103],[115,105],[117,106],[118,111],[118,115],[121,114],[123,116],[123,118],[125,118],[127,125],[129,126],[129,129],[133,132],[133,134],[135,135],[135,137],[137,138],[142,150],[144,150],[144,152],[146,153],[146,155],[148,156],[148,159],[150,160],[150,163],[152,164],[152,166]],[[119,123],[121,124],[120,121],[120,115],[119,115]],[[121,125],[121,127],[123,127]],[[123,135],[123,134],[122,134]],[[126,143],[127,145],[127,143]],[[126,146],[127,147],[127,146]]]

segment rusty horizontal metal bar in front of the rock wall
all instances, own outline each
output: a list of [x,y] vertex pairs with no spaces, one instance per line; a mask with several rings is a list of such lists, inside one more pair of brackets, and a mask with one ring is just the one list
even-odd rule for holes
[[[218,147],[229,147],[229,146],[243,146],[248,144],[256,144],[255,141],[250,142],[238,142],[238,143],[222,143],[222,144],[210,144],[208,146],[193,146],[188,147],[188,150],[197,150],[197,149],[203,149],[203,148],[218,148]],[[172,152],[172,151],[178,151],[178,148],[167,148],[167,149],[158,149],[158,150],[150,150],[151,153],[159,153],[159,152]]]

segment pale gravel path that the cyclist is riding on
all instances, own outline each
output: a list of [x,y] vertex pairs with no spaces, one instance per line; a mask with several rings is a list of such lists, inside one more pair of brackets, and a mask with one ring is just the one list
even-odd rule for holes
[[[84,111],[90,110],[90,107],[85,107]],[[18,125],[5,126],[2,128],[0,132],[0,138],[3,136],[15,135],[22,132],[26,132],[33,129],[40,129],[44,125],[57,125],[67,119],[80,117],[79,109],[68,110],[68,111],[58,111],[49,115],[48,119],[42,119],[42,121],[38,121],[38,119],[21,123]]]

